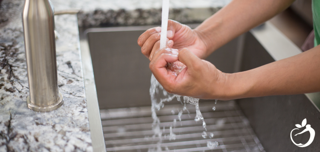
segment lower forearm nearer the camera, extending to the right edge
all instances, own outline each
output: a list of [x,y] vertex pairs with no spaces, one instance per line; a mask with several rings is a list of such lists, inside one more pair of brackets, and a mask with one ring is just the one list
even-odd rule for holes
[[227,74],[221,99],[320,91],[320,46],[252,70]]

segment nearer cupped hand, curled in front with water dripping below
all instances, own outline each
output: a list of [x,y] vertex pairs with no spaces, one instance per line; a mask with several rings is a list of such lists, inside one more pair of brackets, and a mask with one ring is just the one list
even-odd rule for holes
[[[173,62],[181,62],[187,67],[176,76],[167,66],[167,63]],[[179,53],[172,48],[161,49],[154,55],[149,68],[169,93],[202,99],[224,99],[221,91],[228,74],[222,73],[210,62],[199,59],[186,48]]]

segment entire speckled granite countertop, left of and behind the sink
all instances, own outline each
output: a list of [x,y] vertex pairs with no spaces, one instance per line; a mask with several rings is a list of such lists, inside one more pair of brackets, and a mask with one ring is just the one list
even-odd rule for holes
[[[169,19],[201,22],[231,0],[171,0]],[[154,25],[161,22],[161,0],[52,0],[55,16],[59,91],[64,104],[52,112],[27,108],[29,94],[21,10],[24,0],[0,6],[0,151],[93,151],[78,26]]]

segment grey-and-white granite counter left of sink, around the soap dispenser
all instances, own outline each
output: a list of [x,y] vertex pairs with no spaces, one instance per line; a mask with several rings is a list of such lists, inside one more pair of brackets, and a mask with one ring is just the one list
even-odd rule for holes
[[76,15],[55,17],[60,34],[56,41],[58,84],[64,104],[55,111],[40,113],[26,106],[29,90],[23,2],[4,0],[3,5],[12,14],[6,13],[7,22],[0,24],[0,151],[92,151]]

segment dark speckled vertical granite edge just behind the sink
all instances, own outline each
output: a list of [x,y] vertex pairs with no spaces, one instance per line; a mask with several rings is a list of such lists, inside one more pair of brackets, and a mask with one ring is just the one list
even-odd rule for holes
[[[212,15],[220,8],[210,8]],[[189,8],[175,8],[169,10],[169,19],[183,24],[201,23],[203,18],[190,18]],[[90,13],[80,11],[78,13],[78,25],[90,26],[122,26],[122,25],[161,25],[162,9],[135,9],[135,10],[95,10]],[[208,16],[209,17],[209,16]]]

